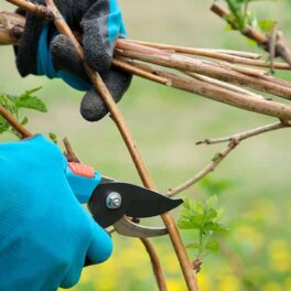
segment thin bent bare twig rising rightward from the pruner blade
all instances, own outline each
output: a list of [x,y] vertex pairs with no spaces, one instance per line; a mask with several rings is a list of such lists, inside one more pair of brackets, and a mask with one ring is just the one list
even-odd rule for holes
[[229,143],[227,144],[227,147],[217,154],[215,154],[209,164],[207,164],[194,177],[187,180],[185,183],[174,188],[170,188],[168,195],[170,197],[173,197],[174,195],[187,190],[188,187],[193,186],[195,183],[201,181],[203,177],[212,173],[222,163],[222,161],[224,161],[225,158],[228,157],[228,154],[239,144],[240,141],[285,127],[290,127],[290,125],[288,122],[276,122],[231,136],[231,138],[228,140]]

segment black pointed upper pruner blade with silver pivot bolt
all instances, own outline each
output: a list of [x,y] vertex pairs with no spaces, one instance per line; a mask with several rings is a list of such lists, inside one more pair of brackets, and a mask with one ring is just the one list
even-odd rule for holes
[[170,212],[182,203],[183,200],[171,200],[144,187],[106,181],[95,188],[88,207],[94,219],[106,228],[110,225],[115,227],[120,225],[116,223],[125,215],[138,218],[152,217]]

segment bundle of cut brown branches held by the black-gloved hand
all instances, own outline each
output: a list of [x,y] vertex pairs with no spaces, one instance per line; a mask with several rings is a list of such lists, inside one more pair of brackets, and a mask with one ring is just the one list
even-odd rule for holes
[[[25,18],[1,12],[0,44],[18,45],[24,25]],[[80,37],[77,32],[75,35]],[[271,100],[272,96],[291,99],[291,83],[270,76],[269,64],[261,57],[239,51],[118,40],[112,65],[164,86],[291,120],[291,106]],[[287,63],[272,63],[272,67],[291,69]]]

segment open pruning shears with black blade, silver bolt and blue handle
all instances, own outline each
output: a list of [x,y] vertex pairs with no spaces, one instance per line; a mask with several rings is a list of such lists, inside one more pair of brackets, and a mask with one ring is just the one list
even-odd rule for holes
[[94,219],[104,228],[114,226],[117,233],[129,237],[165,235],[165,227],[147,227],[129,220],[164,214],[183,203],[149,188],[101,176],[93,168],[67,163],[66,175],[80,202],[88,202]]

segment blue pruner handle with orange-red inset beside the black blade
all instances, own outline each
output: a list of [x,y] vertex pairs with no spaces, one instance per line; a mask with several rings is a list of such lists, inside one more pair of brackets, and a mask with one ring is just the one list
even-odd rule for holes
[[79,164],[67,163],[66,177],[79,203],[87,203],[101,181],[101,175],[93,168]]

